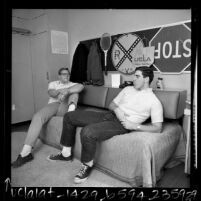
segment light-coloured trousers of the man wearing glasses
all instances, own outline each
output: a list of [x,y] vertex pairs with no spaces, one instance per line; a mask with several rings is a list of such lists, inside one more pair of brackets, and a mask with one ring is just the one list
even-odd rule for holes
[[70,96],[67,96],[62,103],[49,103],[35,113],[29,126],[24,144],[33,147],[38,139],[43,125],[53,116],[64,116],[64,114],[68,111],[68,106],[72,102],[77,106],[78,94],[71,94]]

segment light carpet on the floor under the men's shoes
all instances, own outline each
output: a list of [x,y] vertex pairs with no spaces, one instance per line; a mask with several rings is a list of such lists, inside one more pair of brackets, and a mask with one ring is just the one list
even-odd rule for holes
[[[12,132],[11,160],[16,160],[20,153],[26,132]],[[46,158],[49,154],[59,152],[58,149],[43,144],[39,139],[33,150],[34,160],[19,167],[11,167],[12,187],[131,187],[104,173],[93,169],[90,177],[82,184],[73,182],[80,169],[81,162],[51,162]]]

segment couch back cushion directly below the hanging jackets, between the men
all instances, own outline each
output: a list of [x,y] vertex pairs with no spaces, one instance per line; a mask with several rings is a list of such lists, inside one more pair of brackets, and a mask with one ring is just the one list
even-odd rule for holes
[[107,87],[86,85],[80,93],[78,103],[104,108],[107,91]]

